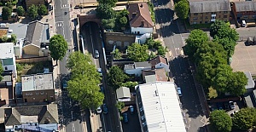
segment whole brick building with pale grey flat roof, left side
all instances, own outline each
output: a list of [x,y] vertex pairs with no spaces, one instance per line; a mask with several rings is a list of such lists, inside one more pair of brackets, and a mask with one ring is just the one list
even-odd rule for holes
[[21,77],[24,102],[55,101],[55,89],[52,73],[25,75]]

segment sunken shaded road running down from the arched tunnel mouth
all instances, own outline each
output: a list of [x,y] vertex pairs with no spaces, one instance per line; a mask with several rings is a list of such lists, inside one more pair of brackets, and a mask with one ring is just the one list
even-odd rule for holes
[[[103,51],[102,51],[102,38],[100,37],[100,29],[96,23],[90,22],[86,23],[82,26],[81,30],[82,36],[84,37],[84,47],[85,49],[94,56],[95,50],[98,50],[100,53],[99,59],[93,59],[96,67],[102,68],[102,85],[104,87],[105,92],[105,100],[104,103],[108,106],[108,114],[101,115],[102,121],[102,130],[108,131],[111,130],[112,132],[121,132],[119,117],[118,117],[118,110],[114,106],[116,99],[113,92],[113,89],[107,86],[106,82],[106,75],[107,70],[105,66],[105,60],[103,58]],[[100,127],[100,126],[99,126]]]

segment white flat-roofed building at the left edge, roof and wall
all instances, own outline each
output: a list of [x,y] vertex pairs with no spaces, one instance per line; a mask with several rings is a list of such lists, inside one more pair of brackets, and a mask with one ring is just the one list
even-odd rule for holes
[[16,77],[14,43],[0,43],[0,60],[3,71],[12,71],[14,77]]

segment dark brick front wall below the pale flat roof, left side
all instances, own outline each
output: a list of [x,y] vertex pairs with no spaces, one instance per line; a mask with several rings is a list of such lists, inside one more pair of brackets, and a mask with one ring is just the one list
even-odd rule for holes
[[45,100],[55,101],[55,89],[23,91],[22,96],[24,102],[25,99],[27,102],[44,102]]

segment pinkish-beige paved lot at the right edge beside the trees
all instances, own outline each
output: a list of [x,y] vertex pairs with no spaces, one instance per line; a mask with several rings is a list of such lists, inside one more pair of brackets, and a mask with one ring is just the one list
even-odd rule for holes
[[238,42],[232,56],[231,67],[234,71],[251,72],[256,74],[256,45],[246,46]]

